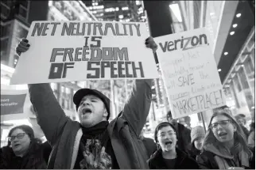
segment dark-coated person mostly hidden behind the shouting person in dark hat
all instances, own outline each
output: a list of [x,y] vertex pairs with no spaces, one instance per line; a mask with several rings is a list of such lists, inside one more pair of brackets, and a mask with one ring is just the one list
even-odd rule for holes
[[167,117],[167,121],[171,123],[173,127],[176,129],[177,133],[180,134],[178,135],[178,142],[177,142],[178,148],[184,151],[185,153],[188,153],[188,145],[191,142],[191,138],[190,138],[191,130],[184,127],[183,124],[177,123],[177,120],[173,119],[171,111],[168,111],[166,117]]

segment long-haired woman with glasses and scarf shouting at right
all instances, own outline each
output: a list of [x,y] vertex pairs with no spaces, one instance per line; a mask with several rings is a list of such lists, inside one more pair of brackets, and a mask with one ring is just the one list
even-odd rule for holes
[[215,111],[197,157],[200,168],[255,168],[253,154],[235,118],[227,110]]

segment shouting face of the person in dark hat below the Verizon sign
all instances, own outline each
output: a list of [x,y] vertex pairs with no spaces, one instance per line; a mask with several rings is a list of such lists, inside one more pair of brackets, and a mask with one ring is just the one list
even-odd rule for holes
[[173,127],[167,126],[159,129],[157,132],[157,141],[163,152],[175,149],[177,138]]

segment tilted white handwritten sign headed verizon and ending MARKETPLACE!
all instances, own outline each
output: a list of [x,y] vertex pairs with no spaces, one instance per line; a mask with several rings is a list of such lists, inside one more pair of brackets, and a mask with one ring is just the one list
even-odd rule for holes
[[204,28],[155,40],[174,119],[225,104],[210,36]]

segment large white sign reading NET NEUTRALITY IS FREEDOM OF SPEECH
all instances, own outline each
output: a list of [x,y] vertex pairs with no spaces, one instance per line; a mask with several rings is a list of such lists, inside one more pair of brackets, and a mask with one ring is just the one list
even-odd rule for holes
[[33,21],[10,84],[157,78],[145,23]]

